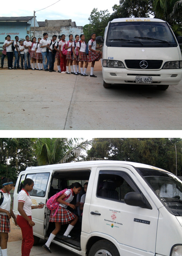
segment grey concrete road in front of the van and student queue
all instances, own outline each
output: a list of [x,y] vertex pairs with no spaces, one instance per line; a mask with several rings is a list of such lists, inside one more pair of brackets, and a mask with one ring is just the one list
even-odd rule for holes
[[[88,72],[89,73],[89,72]],[[0,130],[181,130],[182,81],[105,89],[97,78],[0,70]]]

